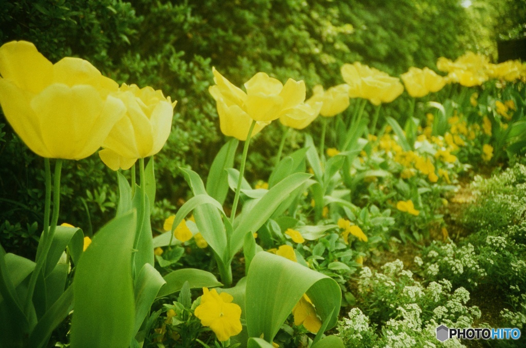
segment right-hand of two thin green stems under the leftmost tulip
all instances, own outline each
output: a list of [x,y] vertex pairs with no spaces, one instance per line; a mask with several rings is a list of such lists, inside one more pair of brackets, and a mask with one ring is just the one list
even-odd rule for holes
[[[36,281],[38,279],[38,275],[40,274],[40,272],[42,272],[42,270],[44,269],[46,265],[47,254],[49,253],[49,249],[51,248],[51,244],[53,242],[53,236],[57,228],[58,212],[60,210],[60,172],[61,171],[62,171],[62,159],[58,158],[57,162],[55,163],[55,175],[54,175],[54,183],[53,183],[53,217],[51,220],[51,227],[49,228],[47,236],[43,241],[44,247],[35,265],[35,270],[31,274],[31,279],[29,279],[29,285],[27,288],[26,306],[25,306],[24,312],[26,313],[26,316],[28,318],[31,314],[30,313],[31,307],[32,307],[31,304],[33,303],[33,294],[35,293]],[[48,183],[46,181],[46,186],[47,185]]]

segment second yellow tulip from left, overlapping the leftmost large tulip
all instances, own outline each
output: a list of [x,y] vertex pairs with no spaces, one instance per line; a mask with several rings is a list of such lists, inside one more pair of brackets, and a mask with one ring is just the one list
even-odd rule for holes
[[171,103],[160,90],[126,84],[114,96],[123,101],[127,111],[109,132],[99,156],[113,170],[129,169],[137,159],[153,156],[163,148],[177,101]]

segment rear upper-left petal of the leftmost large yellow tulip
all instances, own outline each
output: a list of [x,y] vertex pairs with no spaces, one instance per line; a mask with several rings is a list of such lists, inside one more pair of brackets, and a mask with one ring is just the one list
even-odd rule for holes
[[18,88],[37,94],[51,82],[53,64],[32,43],[13,41],[0,47],[0,74]]

